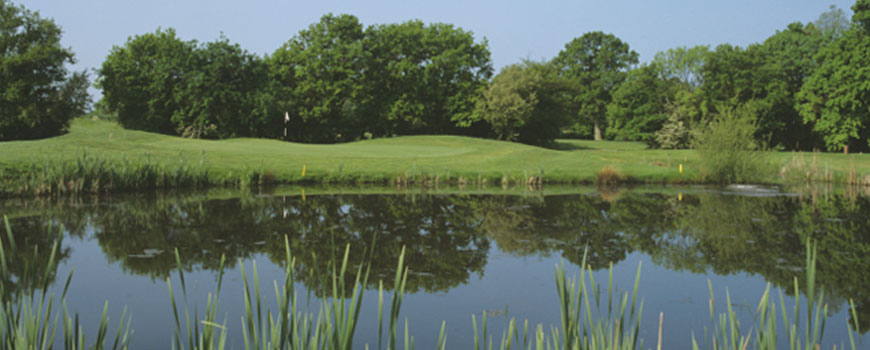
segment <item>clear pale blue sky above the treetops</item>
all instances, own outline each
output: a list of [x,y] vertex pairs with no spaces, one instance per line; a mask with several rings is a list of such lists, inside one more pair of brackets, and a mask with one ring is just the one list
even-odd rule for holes
[[184,39],[211,41],[223,32],[257,54],[271,53],[325,13],[349,13],[364,25],[451,23],[486,38],[493,65],[554,57],[590,31],[615,34],[641,62],[677,46],[763,41],[791,22],[811,22],[836,5],[851,18],[854,0],[574,0],[574,1],[230,1],[230,0],[12,0],[64,30],[74,69],[96,68],[128,37],[173,27]]

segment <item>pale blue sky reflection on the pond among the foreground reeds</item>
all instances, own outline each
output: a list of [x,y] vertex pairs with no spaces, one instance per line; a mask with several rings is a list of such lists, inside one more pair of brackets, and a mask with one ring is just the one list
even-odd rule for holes
[[[109,316],[112,325],[117,325],[121,311],[126,306],[132,315],[132,346],[137,349],[165,348],[172,337],[174,319],[169,302],[166,281],[154,280],[143,276],[124,273],[117,263],[107,265],[100,247],[92,240],[66,240],[72,250],[71,258],[59,268],[58,276],[65,277],[66,271],[75,267],[74,276],[67,295],[70,311],[78,312],[85,334],[92,339],[94,328],[106,300],[109,301]],[[283,281],[281,267],[271,264],[269,259],[258,255],[254,258],[260,276],[261,292],[267,305],[276,310],[272,281]],[[562,261],[559,257],[514,257],[501,252],[495,245],[491,247],[488,264],[483,276],[472,275],[467,284],[452,288],[447,293],[429,294],[425,292],[405,296],[402,316],[409,320],[411,334],[418,348],[429,348],[435,344],[441,322],[447,322],[449,348],[468,348],[473,339],[471,314],[480,322],[481,312],[491,311],[489,317],[490,335],[498,343],[508,318],[501,316],[505,307],[509,315],[518,321],[529,320],[530,329],[538,323],[558,326],[559,311],[554,283],[554,267]],[[754,326],[752,313],[764,292],[766,283],[758,276],[738,274],[718,276],[715,274],[692,274],[675,272],[652,263],[649,256],[640,253],[630,254],[627,259],[614,266],[614,284],[623,292],[631,291],[637,273],[638,263],[642,263],[639,299],[644,301],[640,337],[645,347],[654,346],[657,339],[659,312],[664,312],[663,348],[688,348],[692,334],[704,337],[704,327],[709,326],[707,280],[713,285],[717,298],[717,312],[725,310],[725,289],[727,287],[732,306],[745,325]],[[245,268],[251,269],[251,261],[245,261]],[[576,265],[565,262],[569,276],[579,275]],[[248,275],[251,278],[251,275]],[[605,288],[607,270],[595,272],[595,280]],[[208,293],[213,293],[217,274],[213,271],[193,271],[185,273],[188,297],[199,302],[200,312],[205,305]],[[180,293],[177,273],[172,275],[173,288]],[[58,288],[58,286],[56,286]],[[301,283],[296,283],[298,301],[306,303],[307,294]],[[59,292],[59,290],[57,291]],[[180,297],[179,294],[176,294]],[[368,343],[377,343],[377,298],[375,290],[369,290],[364,297],[359,327],[356,332],[356,345],[363,348]],[[221,292],[221,316],[226,317],[229,326],[228,348],[244,347],[240,333],[241,317],[244,314],[241,275],[238,266],[230,269],[224,276]],[[389,300],[389,294],[385,297]],[[779,298],[775,298],[778,303]],[[603,300],[602,300],[603,302]],[[311,310],[317,308],[316,298],[312,296]],[[191,307],[193,303],[191,303]],[[777,304],[778,306],[778,304]],[[786,298],[786,306],[791,309],[793,299]],[[387,306],[389,307],[389,306]],[[806,310],[806,305],[802,306]],[[492,312],[496,311],[496,312]],[[804,312],[802,311],[802,312]],[[779,312],[779,311],[778,311]],[[826,343],[847,343],[844,320],[846,308],[832,315],[825,330]],[[182,316],[183,317],[183,316]],[[182,322],[184,322],[182,320]],[[521,325],[521,323],[520,323]],[[114,331],[114,328],[110,328]],[[748,331],[749,326],[744,328]],[[754,329],[754,328],[753,328]],[[401,333],[400,333],[401,336]],[[58,339],[60,341],[60,339]],[[870,336],[863,337],[868,344]],[[497,346],[496,346],[497,347]],[[828,349],[823,347],[823,349]],[[839,347],[838,347],[839,348]]]

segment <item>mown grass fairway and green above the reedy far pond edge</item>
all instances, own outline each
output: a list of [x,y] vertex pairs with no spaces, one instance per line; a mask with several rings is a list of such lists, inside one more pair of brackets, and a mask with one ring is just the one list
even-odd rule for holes
[[[106,121],[76,119],[66,135],[37,141],[0,142],[0,171],[21,176],[30,167],[75,162],[83,154],[108,160],[186,163],[208,169],[210,177],[269,174],[278,182],[411,182],[482,179],[525,183],[591,183],[605,166],[639,183],[697,182],[697,153],[648,150],[635,142],[560,140],[553,149],[459,136],[406,136],[335,145],[263,139],[195,140],[124,130]],[[768,182],[781,182],[780,169],[794,159],[809,168],[840,174],[870,174],[866,155],[769,153]],[[679,165],[683,165],[683,173]],[[304,169],[304,176],[303,176]],[[802,170],[803,171],[803,170]],[[14,175],[10,175],[14,174]],[[462,180],[460,180],[460,178]],[[6,179],[9,181],[9,179]],[[13,179],[14,180],[14,179]]]

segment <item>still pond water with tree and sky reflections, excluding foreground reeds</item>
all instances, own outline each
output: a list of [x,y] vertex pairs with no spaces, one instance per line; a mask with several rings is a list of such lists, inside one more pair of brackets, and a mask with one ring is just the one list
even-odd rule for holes
[[[309,190],[311,192],[311,190]],[[552,192],[552,191],[551,191]],[[770,283],[792,295],[806,266],[807,238],[818,241],[817,285],[831,317],[826,344],[848,344],[848,300],[854,300],[868,346],[870,329],[870,197],[855,193],[797,195],[730,188],[567,189],[573,194],[309,194],[278,189],[267,195],[238,193],[147,194],[64,200],[0,202],[19,256],[11,262],[11,297],[32,287],[46,271],[40,259],[63,225],[60,264],[48,271],[56,293],[74,268],[67,294],[90,339],[106,301],[112,320],[126,306],[132,314],[133,348],[169,346],[174,320],[167,278],[178,288],[178,249],[190,305],[205,305],[221,256],[227,272],[221,319],[231,346],[243,348],[239,261],[256,261],[264,295],[274,300],[273,280],[283,281],[284,237],[297,259],[298,299],[328,293],[312,276],[330,257],[351,247],[355,268],[372,246],[356,344],[377,344],[377,285],[392,286],[404,246],[410,268],[402,318],[419,348],[431,348],[442,321],[448,345],[468,348],[471,315],[489,312],[498,340],[509,317],[534,326],[558,326],[554,266],[577,274],[583,251],[596,281],[613,264],[615,284],[630,290],[642,265],[641,337],[654,344],[664,313],[665,348],[689,348],[710,325],[708,280],[724,310],[727,288],[747,326]],[[277,194],[275,194],[277,193]],[[4,237],[4,242],[6,238]],[[31,254],[33,247],[37,254]],[[26,249],[26,250],[25,250]],[[36,266],[34,268],[33,266]],[[250,272],[249,272],[250,274]],[[307,292],[306,292],[307,291]],[[778,294],[775,294],[777,301]],[[10,296],[7,296],[10,297]],[[786,305],[793,305],[786,297]],[[508,317],[502,315],[507,309]],[[313,309],[316,310],[316,309]],[[806,310],[804,306],[802,310]],[[113,325],[116,323],[113,322]],[[860,346],[859,346],[860,347]],[[827,346],[830,348],[830,346]],[[838,347],[839,348],[839,347]]]

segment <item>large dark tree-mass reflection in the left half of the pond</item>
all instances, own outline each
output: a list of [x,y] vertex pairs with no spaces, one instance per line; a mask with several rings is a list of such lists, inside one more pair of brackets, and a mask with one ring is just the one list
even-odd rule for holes
[[470,209],[475,201],[461,196],[314,196],[304,201],[128,197],[49,212],[62,213],[58,217],[64,221],[90,223],[110,263],[153,279],[176,268],[175,249],[187,270],[217,269],[221,255],[227,256],[228,268],[263,253],[284,264],[287,235],[297,276],[322,294],[318,280],[311,278],[314,271],[326,272],[326,262],[340,259],[347,244],[355,257],[351,262],[359,264],[377,235],[369,287],[379,280],[391,286],[405,246],[407,290],[435,292],[466,283],[486,265],[489,240],[479,233],[479,220]]

